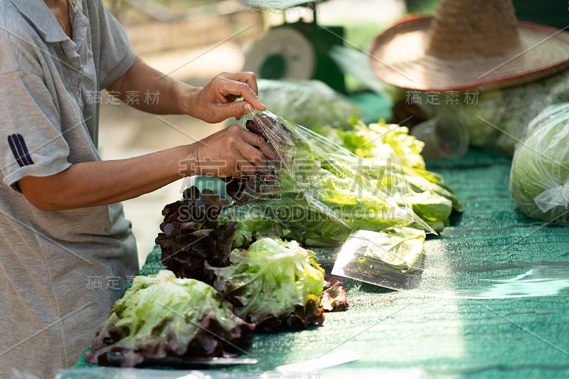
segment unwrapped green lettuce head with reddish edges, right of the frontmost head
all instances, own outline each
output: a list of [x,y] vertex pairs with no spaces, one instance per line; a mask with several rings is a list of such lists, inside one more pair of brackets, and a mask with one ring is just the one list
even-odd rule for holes
[[296,241],[262,237],[248,250],[233,250],[231,265],[208,269],[216,274],[213,286],[242,319],[275,326],[292,315],[307,327],[324,321],[318,304],[324,276],[313,267],[315,257]]

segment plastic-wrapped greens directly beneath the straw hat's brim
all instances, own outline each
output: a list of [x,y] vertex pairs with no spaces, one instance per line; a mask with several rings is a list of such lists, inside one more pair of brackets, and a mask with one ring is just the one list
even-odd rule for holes
[[[406,95],[412,97],[413,92]],[[471,146],[512,156],[528,122],[548,105],[567,101],[569,70],[499,90],[420,92],[420,104],[415,103],[429,118],[462,124]]]

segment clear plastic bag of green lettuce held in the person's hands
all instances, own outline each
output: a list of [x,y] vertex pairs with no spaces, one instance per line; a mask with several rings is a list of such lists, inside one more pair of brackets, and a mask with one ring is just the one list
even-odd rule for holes
[[233,210],[280,223],[301,241],[344,242],[354,230],[413,225],[432,232],[405,200],[410,193],[397,158],[364,160],[270,112],[244,117],[277,159],[255,176],[228,183]]

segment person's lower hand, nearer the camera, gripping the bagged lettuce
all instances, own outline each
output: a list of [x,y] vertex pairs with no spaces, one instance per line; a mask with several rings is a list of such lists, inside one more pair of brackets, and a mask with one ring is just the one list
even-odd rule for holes
[[240,178],[255,174],[257,167],[265,169],[267,158],[276,158],[265,139],[235,124],[192,146],[193,156],[186,162],[186,175]]

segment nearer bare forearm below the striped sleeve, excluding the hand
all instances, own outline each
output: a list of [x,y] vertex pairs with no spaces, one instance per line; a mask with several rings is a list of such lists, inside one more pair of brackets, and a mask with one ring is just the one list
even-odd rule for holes
[[155,191],[184,174],[197,174],[187,160],[191,149],[191,145],[179,146],[129,159],[73,164],[52,176],[26,176],[18,186],[41,210],[117,203]]

